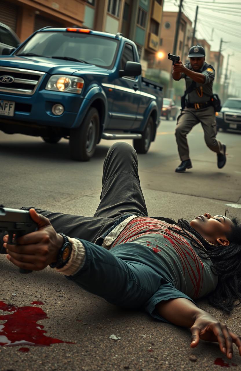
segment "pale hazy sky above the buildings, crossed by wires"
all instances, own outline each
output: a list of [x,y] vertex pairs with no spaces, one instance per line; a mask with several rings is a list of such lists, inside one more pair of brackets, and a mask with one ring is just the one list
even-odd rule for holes
[[[180,0],[164,0],[164,11],[178,12],[179,3]],[[224,63],[221,81],[224,79],[227,56],[230,54],[228,75],[230,70],[232,72],[229,91],[231,92],[234,86],[235,90],[239,89],[241,96],[241,0],[184,0],[183,12],[192,21],[192,26],[197,5],[198,22],[195,36],[207,40],[211,50],[219,50],[221,38],[227,42],[222,44]],[[231,56],[233,53],[234,56]]]

